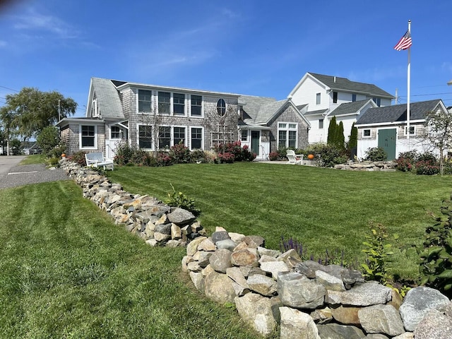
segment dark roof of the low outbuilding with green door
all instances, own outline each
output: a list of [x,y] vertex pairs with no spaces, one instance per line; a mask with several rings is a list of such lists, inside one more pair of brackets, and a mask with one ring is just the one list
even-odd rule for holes
[[[424,120],[428,112],[434,111],[438,106],[443,109],[441,99],[410,103],[410,121]],[[382,124],[388,122],[403,122],[407,120],[407,105],[393,105],[385,107],[369,108],[362,114],[355,125]]]

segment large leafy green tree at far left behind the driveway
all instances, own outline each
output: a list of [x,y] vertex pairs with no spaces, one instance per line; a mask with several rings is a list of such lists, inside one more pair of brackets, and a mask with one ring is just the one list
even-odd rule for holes
[[6,105],[0,109],[9,137],[13,134],[27,140],[55,124],[59,118],[75,114],[77,103],[57,91],[41,92],[37,88],[24,87],[19,93],[6,95]]

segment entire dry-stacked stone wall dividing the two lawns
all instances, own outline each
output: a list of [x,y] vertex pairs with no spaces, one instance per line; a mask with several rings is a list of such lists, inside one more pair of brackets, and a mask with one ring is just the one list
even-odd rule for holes
[[233,303],[265,336],[309,339],[452,339],[452,302],[415,287],[405,299],[357,270],[301,261],[293,249],[265,248],[259,236],[217,228],[210,237],[193,214],[156,198],[130,194],[93,169],[61,160],[83,196],[151,246],[186,246],[182,270],[196,289]]

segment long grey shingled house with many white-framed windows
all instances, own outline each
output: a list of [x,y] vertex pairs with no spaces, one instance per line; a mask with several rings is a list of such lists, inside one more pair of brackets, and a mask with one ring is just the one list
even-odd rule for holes
[[278,145],[307,145],[309,122],[291,100],[91,78],[85,117],[57,124],[66,154],[114,157],[118,141],[144,150],[191,150],[242,140],[258,160]]

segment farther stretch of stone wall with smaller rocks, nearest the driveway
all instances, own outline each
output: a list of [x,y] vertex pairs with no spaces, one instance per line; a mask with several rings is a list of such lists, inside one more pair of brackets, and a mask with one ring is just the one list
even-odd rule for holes
[[114,222],[137,234],[150,246],[186,246],[206,234],[193,213],[165,205],[150,196],[131,194],[93,169],[60,161],[69,177],[83,189],[83,196],[112,215]]

